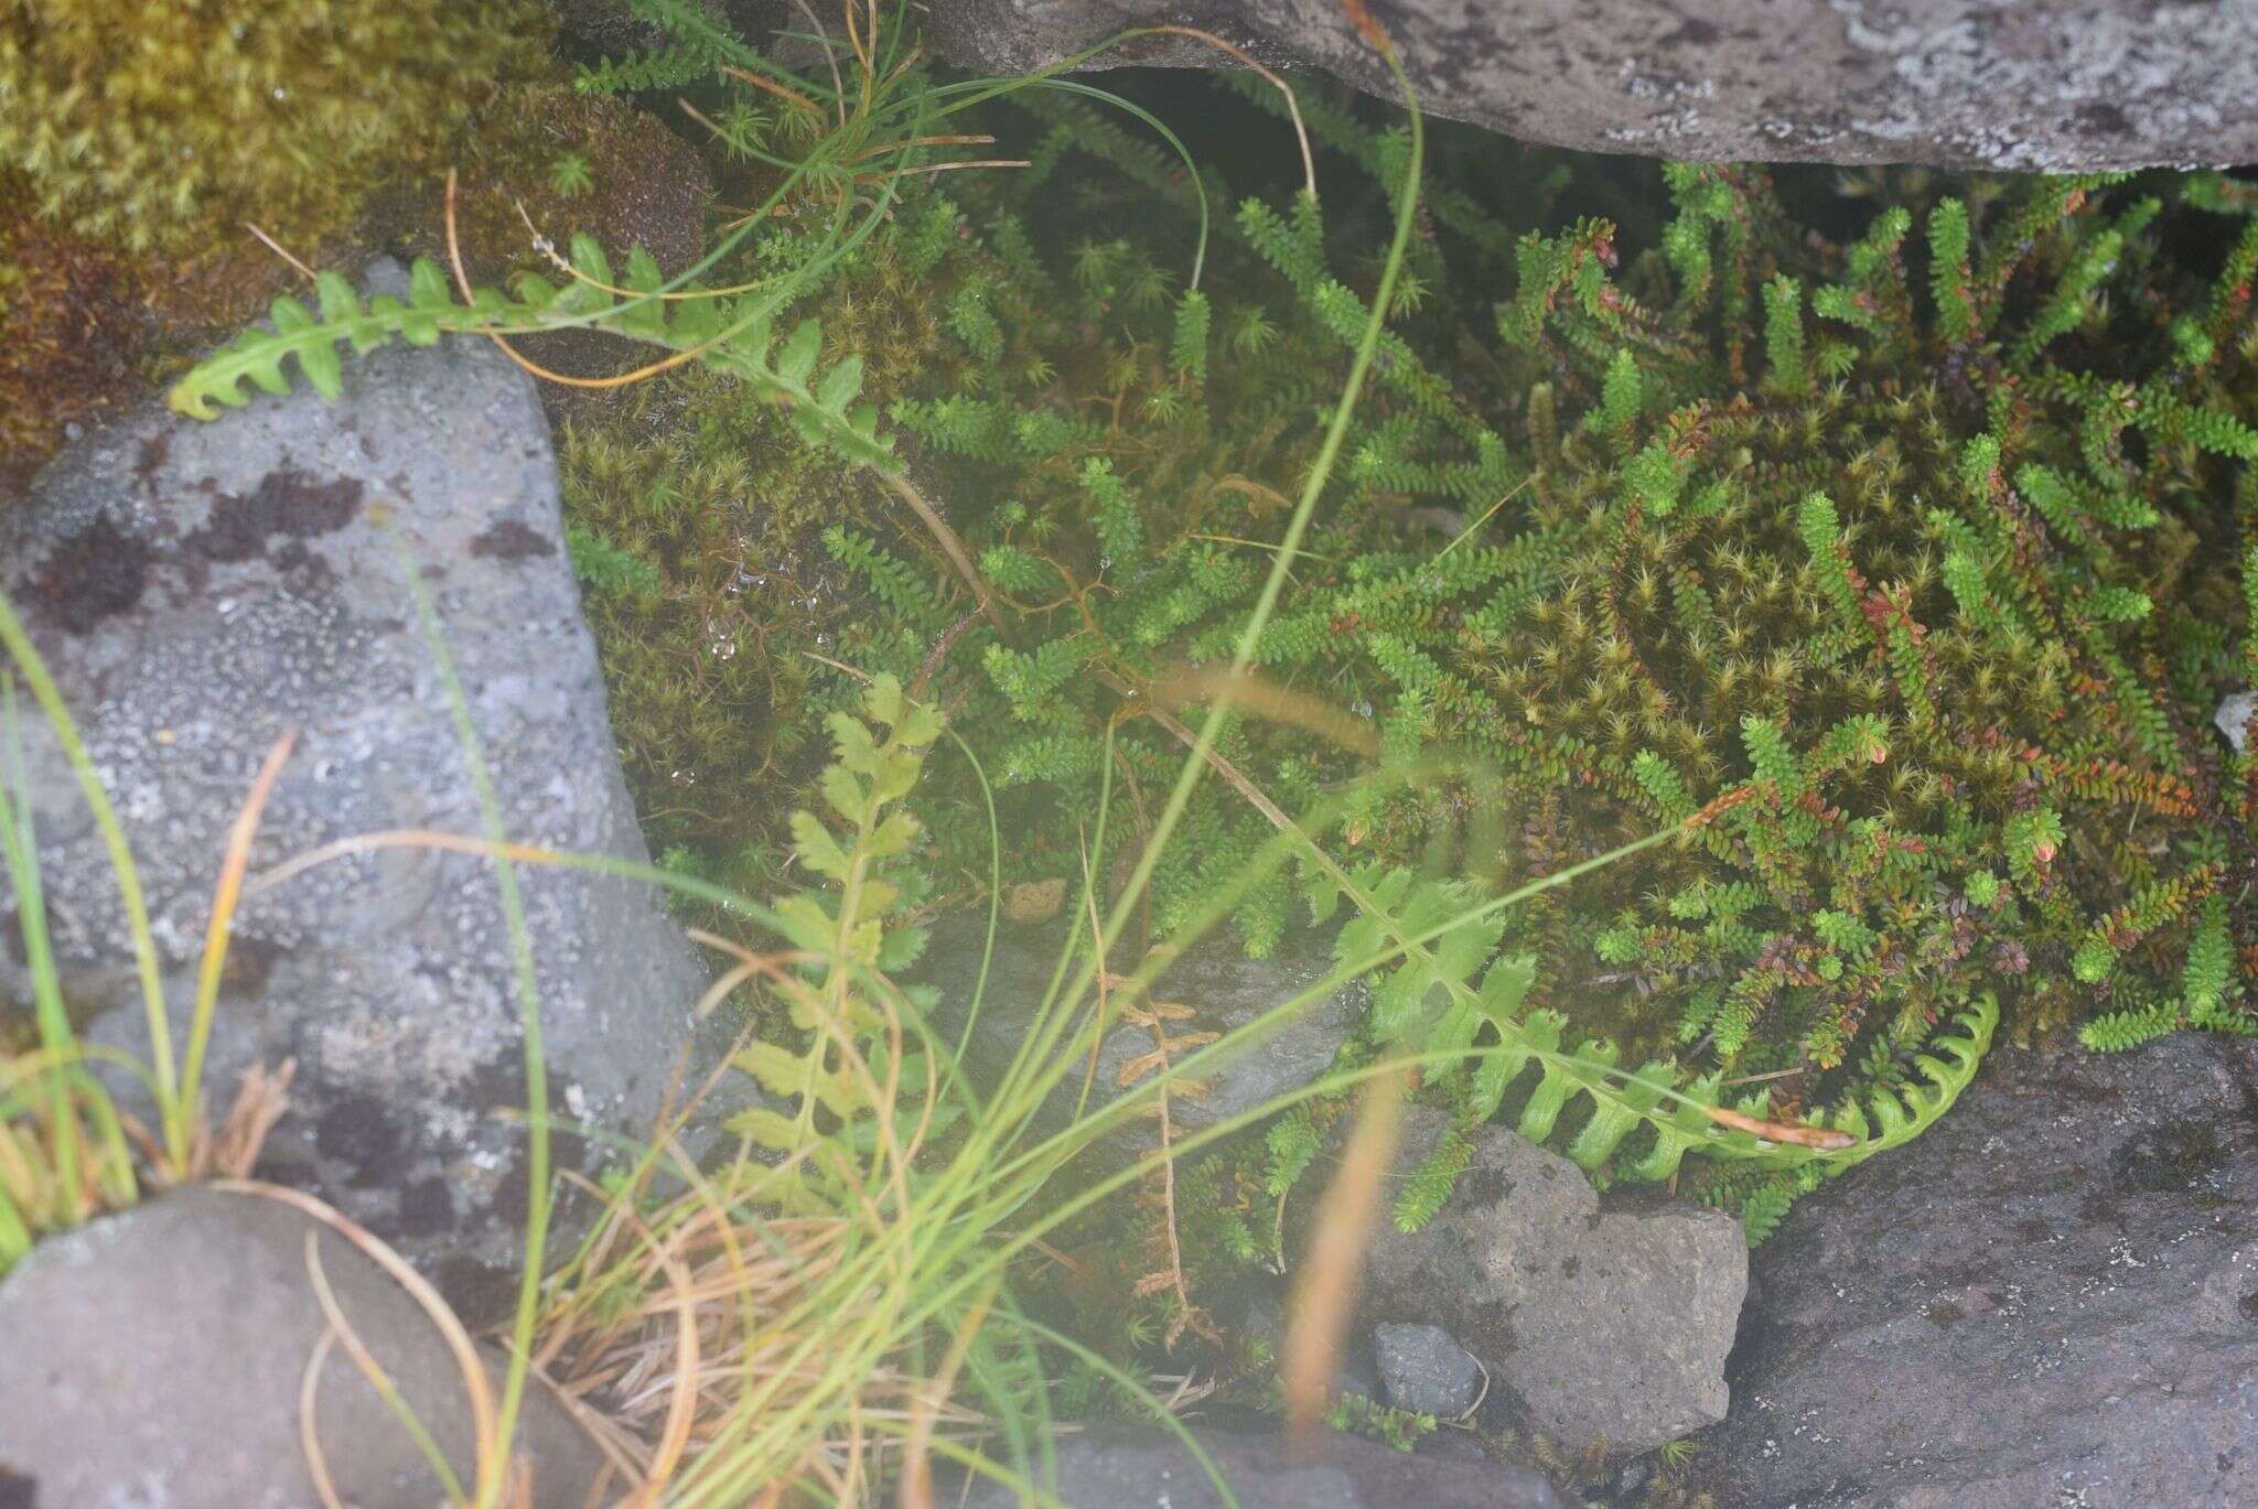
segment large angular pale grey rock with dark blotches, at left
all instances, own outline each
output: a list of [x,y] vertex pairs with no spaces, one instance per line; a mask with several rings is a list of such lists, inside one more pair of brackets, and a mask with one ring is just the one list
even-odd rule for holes
[[[142,409],[0,513],[0,562],[140,863],[176,1032],[228,827],[287,730],[298,748],[253,874],[357,834],[481,834],[411,578],[445,626],[506,831],[644,858],[546,425],[485,341],[348,357],[334,404],[296,391],[210,425]],[[147,1057],[102,838],[45,723],[25,723],[70,994],[95,1041]],[[549,867],[519,883],[555,1116],[641,1134],[693,1041],[704,969],[644,883]],[[0,951],[0,1010],[27,998],[18,960]],[[269,1168],[418,1263],[449,1258],[458,1288],[515,1270],[524,1129],[495,1111],[526,1105],[519,1055],[483,858],[393,847],[246,897],[212,1100],[253,1062],[296,1059]],[[578,1139],[560,1141],[569,1163]]]

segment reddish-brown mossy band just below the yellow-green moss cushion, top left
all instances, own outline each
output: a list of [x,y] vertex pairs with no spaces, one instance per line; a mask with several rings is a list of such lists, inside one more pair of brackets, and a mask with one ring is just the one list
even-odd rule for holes
[[[413,29],[415,16],[395,20]],[[9,25],[27,23],[0,9],[0,29]],[[192,194],[185,210],[104,190],[120,181],[115,172],[88,169],[68,192],[50,194],[45,178],[9,160],[11,151],[32,151],[29,127],[18,120],[29,102],[5,106],[0,142],[14,145],[0,147],[0,488],[20,490],[72,425],[156,393],[271,298],[305,291],[298,269],[251,226],[300,264],[348,273],[379,253],[445,258],[445,176],[456,169],[458,244],[479,280],[546,267],[535,237],[562,244],[574,230],[648,246],[668,271],[695,260],[711,197],[695,147],[632,102],[576,93],[571,63],[549,50],[540,7],[461,7],[443,18],[447,25],[467,25],[476,45],[438,61],[400,59],[406,77],[395,79],[368,63],[366,72],[377,75],[368,88],[323,108],[334,142],[305,133],[289,151],[264,151],[260,174],[194,178],[219,187]],[[285,50],[262,68],[282,79],[296,56]],[[307,72],[303,86],[321,88],[321,77]],[[275,88],[287,93],[291,84]],[[429,90],[447,106],[402,129]],[[194,90],[165,108],[192,115],[185,127],[194,131],[226,131],[230,140],[298,131],[287,111],[237,111]],[[131,136],[129,124],[117,131]],[[174,140],[149,122],[133,129],[147,140]],[[567,156],[585,165],[585,187],[558,187],[569,185],[555,172]],[[126,174],[131,183],[142,176]],[[140,230],[158,221],[163,235]],[[574,343],[564,343],[562,359],[576,359]],[[601,355],[596,366],[603,370]]]

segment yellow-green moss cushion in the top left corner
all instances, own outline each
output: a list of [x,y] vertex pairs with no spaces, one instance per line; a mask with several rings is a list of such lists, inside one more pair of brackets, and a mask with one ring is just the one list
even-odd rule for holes
[[318,242],[379,176],[438,163],[546,36],[537,0],[5,0],[0,165],[129,251],[242,221]]

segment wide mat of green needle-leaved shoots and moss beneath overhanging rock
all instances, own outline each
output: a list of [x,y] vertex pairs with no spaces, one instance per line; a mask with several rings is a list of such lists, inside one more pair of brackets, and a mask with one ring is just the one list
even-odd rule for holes
[[[1400,136],[1314,120],[1391,183]],[[1095,122],[1052,142],[1140,160]],[[1156,219],[1190,201],[1161,172],[1109,183]],[[894,418],[955,456],[955,497],[998,499],[957,526],[1007,621],[953,696],[1034,831],[1057,815],[1023,863],[1064,867],[1106,779],[1122,802],[1172,750],[1152,709],[1199,700],[1185,666],[1244,626],[1269,497],[1312,436],[1298,395],[1371,291],[1310,199],[1235,217],[1274,282],[1194,296],[1145,244],[1043,260],[1016,187],[960,190],[1003,201],[971,224],[1009,271],[971,267],[951,330],[987,352],[980,382]],[[2247,194],[1931,178],[1831,208],[1829,235],[1759,169],[1666,187],[1644,248],[1599,219],[1513,242],[1493,343],[1398,300],[1258,651],[1285,694],[1368,721],[1323,741],[1249,721],[1226,759],[1287,809],[1375,754],[1420,768],[1371,788],[1344,858],[1443,861],[1477,890],[1730,800],[1698,840],[1540,899],[1493,944],[1533,962],[1515,1014],[1766,1084],[1770,1114],[1931,1078],[1915,1053],[1992,989],[2023,1032],[2100,1010],[2093,1046],[2251,1030],[2226,965],[2253,935],[2249,766],[2208,727],[2247,678]],[[1463,312],[1454,269],[1511,237],[1443,197],[1434,219],[1427,267]],[[1163,915],[1271,829],[1228,788],[1192,820]],[[1323,906],[1332,879],[1303,874]],[[1251,947],[1294,890],[1246,897]]]

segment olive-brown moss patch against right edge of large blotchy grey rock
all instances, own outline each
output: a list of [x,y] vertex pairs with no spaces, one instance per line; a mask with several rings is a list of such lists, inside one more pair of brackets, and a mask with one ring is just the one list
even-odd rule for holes
[[824,754],[808,707],[842,594],[820,529],[876,508],[781,416],[718,377],[668,375],[562,431],[564,515],[612,727],[655,852],[765,879],[786,795]]

